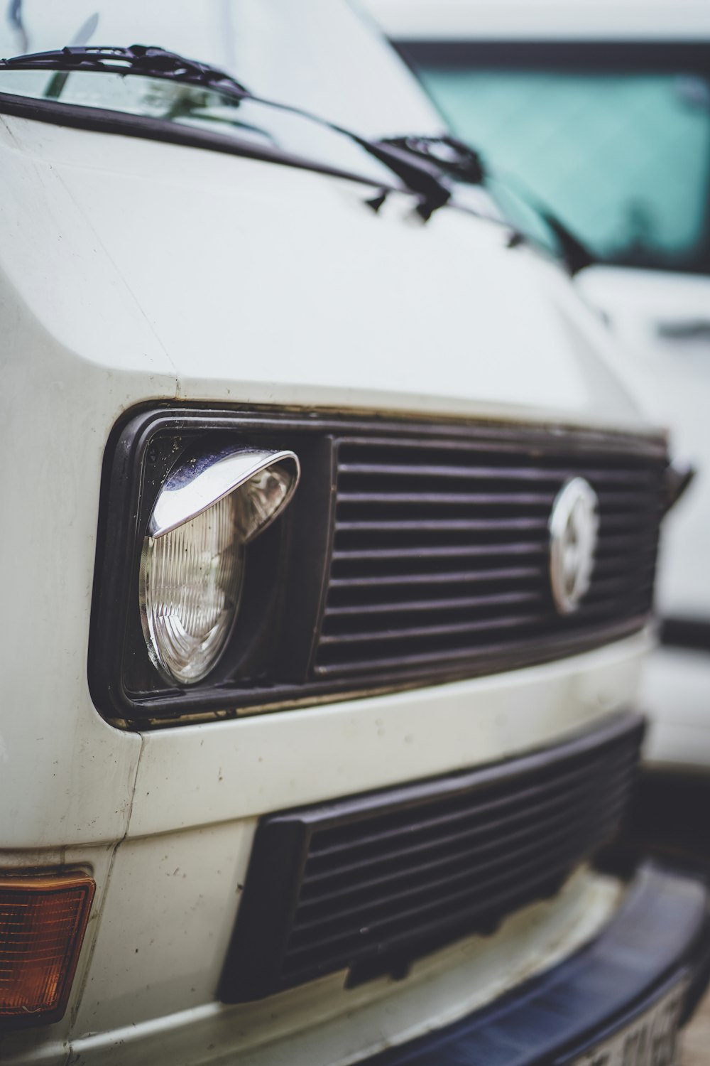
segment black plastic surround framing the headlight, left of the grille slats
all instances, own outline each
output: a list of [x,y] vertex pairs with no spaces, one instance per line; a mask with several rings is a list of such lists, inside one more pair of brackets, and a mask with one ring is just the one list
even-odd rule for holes
[[[139,564],[155,498],[187,453],[220,445],[294,448],[306,477],[283,515],[246,548],[234,629],[210,674],[182,688],[161,676],[141,626]],[[88,681],[119,726],[226,716],[283,699],[309,668],[330,540],[330,440],[288,416],[191,407],[133,414],[106,447],[94,583]],[[294,552],[298,566],[288,566]],[[292,697],[293,698],[293,697]]]

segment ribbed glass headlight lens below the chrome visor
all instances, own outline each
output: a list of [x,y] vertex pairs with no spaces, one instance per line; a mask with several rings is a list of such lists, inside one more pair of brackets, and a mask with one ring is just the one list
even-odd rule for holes
[[141,561],[141,608],[151,658],[183,684],[209,673],[230,634],[242,589],[244,543],[228,496],[161,537]]

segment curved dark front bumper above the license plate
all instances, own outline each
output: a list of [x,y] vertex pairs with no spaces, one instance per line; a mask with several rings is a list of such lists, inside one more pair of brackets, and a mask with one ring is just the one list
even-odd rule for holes
[[686,1021],[708,983],[709,963],[707,886],[648,863],[615,918],[572,958],[363,1066],[566,1066],[643,1015],[676,982],[689,982]]

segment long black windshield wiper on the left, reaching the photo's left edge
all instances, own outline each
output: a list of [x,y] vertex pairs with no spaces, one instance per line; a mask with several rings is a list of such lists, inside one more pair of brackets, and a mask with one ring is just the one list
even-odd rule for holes
[[142,75],[164,81],[175,81],[181,85],[210,88],[221,96],[234,100],[261,103],[268,108],[299,115],[318,123],[328,129],[349,138],[366,152],[392,171],[403,184],[419,197],[418,214],[426,221],[434,211],[443,207],[451,197],[451,190],[443,179],[441,168],[429,160],[416,159],[410,151],[386,141],[368,141],[336,123],[328,122],[302,108],[267,100],[250,93],[235,78],[208,63],[185,59],[165,48],[147,45],[131,45],[128,48],[111,46],[86,46],[57,48],[30,55],[16,55],[0,60],[0,69],[5,70],[63,70],[93,71],[95,74]]

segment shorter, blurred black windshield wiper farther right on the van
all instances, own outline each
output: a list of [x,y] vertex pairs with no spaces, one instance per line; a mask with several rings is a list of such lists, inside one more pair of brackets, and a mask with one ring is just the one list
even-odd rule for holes
[[[440,169],[453,181],[464,184],[486,185],[490,178],[495,178],[501,185],[508,187],[527,207],[529,207],[547,228],[555,235],[565,263],[572,274],[577,274],[584,266],[596,262],[590,249],[576,237],[546,204],[535,196],[523,192],[495,173],[489,173],[480,155],[452,136],[406,136],[390,138],[385,144],[396,146],[413,156],[435,163]],[[519,227],[518,227],[519,228]]]

